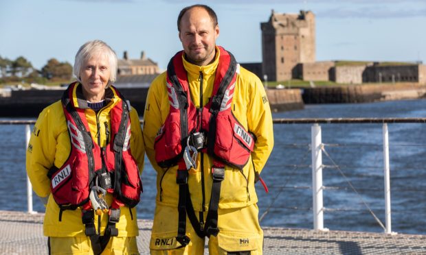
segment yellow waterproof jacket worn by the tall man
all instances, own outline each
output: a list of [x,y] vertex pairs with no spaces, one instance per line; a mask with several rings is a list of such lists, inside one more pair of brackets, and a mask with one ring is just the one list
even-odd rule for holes
[[[188,71],[191,100],[197,108],[200,104],[205,106],[212,96],[218,55],[219,50],[216,47],[215,60],[207,66],[190,64],[185,60],[185,54],[182,56],[183,66]],[[203,73],[202,102],[200,102],[200,72]],[[146,154],[157,171],[157,204],[177,206],[179,200],[179,185],[176,184],[177,166],[163,169],[155,162],[155,136],[166,121],[170,108],[166,75],[166,72],[159,75],[148,90],[144,112],[144,142]],[[262,82],[256,75],[242,67],[237,68],[231,108],[239,123],[256,136],[256,143],[243,171],[228,165],[225,167],[219,208],[240,208],[258,202],[254,189],[255,171],[258,173],[262,171],[273,147],[271,110]],[[194,210],[205,211],[208,210],[212,193],[213,160],[208,154],[203,154],[203,167],[201,167],[201,153],[197,157],[197,169],[190,170],[188,185]]]

